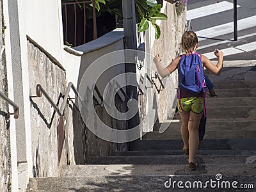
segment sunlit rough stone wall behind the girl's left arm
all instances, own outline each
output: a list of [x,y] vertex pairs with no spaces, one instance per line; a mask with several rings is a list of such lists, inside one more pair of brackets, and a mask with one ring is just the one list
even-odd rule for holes
[[[156,55],[159,52],[162,56],[161,63],[166,67],[177,54],[181,54],[180,43],[186,27],[186,11],[178,17],[175,4],[167,3],[164,13],[168,15],[168,19],[161,22],[161,36],[154,42],[152,55]],[[152,65],[152,70],[156,71],[155,65]],[[159,122],[170,119],[174,115],[176,108],[176,88],[178,86],[177,70],[166,77],[163,82],[165,85],[164,91],[159,94],[155,93]],[[159,82],[157,82],[157,86],[160,86]]]

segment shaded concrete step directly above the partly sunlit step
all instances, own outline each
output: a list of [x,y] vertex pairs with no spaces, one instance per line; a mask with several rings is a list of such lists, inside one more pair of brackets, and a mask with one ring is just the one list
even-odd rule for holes
[[[198,155],[196,161],[205,164],[247,164],[252,159],[256,166],[256,156],[209,156]],[[188,156],[108,156],[108,157],[91,157],[88,164],[187,164]]]

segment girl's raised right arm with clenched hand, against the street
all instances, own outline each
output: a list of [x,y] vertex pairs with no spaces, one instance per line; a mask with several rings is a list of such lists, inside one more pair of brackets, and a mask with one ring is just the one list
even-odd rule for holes
[[214,54],[218,57],[217,65],[212,64],[212,62],[205,56],[202,55],[202,62],[204,67],[207,68],[212,74],[216,76],[220,76],[222,67],[223,67],[223,52],[218,50],[218,52],[214,52]]

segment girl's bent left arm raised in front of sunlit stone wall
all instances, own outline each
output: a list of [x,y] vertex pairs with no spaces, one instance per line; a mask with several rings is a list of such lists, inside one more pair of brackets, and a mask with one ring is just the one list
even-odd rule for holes
[[161,61],[161,56],[159,54],[156,54],[156,56],[154,57],[154,63],[156,63],[156,68],[157,68],[157,72],[159,73],[159,75],[161,77],[166,77],[169,74],[172,74],[172,72],[177,68],[179,61],[180,61],[180,57],[175,58],[170,65],[168,65],[166,68],[164,68],[160,61]]

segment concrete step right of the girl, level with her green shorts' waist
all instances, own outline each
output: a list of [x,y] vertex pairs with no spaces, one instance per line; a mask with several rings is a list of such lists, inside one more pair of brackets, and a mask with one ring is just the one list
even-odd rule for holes
[[256,107],[255,97],[232,97],[231,99],[227,97],[205,97],[205,104],[207,109],[218,106],[227,106],[227,108],[236,106]]

